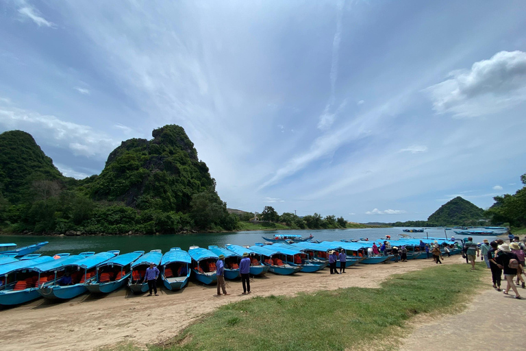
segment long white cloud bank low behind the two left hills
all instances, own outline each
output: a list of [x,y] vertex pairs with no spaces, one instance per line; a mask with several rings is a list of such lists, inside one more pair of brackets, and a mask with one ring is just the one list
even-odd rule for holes
[[47,141],[49,145],[71,149],[75,155],[105,159],[121,143],[104,132],[92,130],[88,125],[2,104],[0,124],[9,129],[24,130],[41,141]]

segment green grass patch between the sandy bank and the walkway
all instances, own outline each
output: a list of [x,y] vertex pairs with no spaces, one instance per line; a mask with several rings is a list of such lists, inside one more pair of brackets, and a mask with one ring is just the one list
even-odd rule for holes
[[408,319],[460,310],[482,274],[481,263],[477,271],[443,265],[393,276],[379,289],[253,298],[222,306],[149,350],[392,350]]

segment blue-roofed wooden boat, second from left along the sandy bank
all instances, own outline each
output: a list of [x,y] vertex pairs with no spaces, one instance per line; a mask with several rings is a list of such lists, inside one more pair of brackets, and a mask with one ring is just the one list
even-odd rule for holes
[[59,285],[59,282],[55,282],[53,285],[40,287],[38,293],[42,295],[42,298],[49,300],[68,300],[86,293],[88,291],[86,282],[95,279],[97,265],[108,261],[116,255],[118,255],[118,250],[111,250],[82,258],[82,260],[71,265],[69,270],[64,273],[71,274],[73,280],[71,285]]

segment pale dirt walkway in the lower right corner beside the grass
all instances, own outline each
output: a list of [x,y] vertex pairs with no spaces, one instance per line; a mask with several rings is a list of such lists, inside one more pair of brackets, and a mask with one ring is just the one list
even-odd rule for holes
[[[505,286],[505,285],[504,285]],[[519,288],[521,296],[526,290]],[[414,326],[400,351],[524,350],[526,300],[492,289],[475,295],[465,311]]]

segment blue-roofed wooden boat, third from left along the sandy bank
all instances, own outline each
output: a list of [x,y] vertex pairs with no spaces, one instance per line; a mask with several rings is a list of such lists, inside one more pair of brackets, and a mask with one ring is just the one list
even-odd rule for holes
[[123,287],[132,275],[132,263],[143,254],[144,251],[129,252],[99,263],[95,278],[86,282],[86,288],[90,293],[111,293]]

